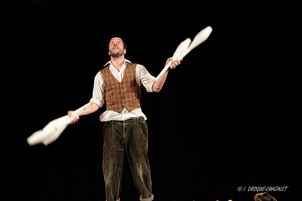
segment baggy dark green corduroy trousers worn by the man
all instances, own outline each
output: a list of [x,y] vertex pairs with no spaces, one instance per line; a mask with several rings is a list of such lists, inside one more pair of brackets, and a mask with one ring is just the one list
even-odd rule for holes
[[150,166],[147,158],[148,128],[144,118],[108,121],[103,127],[103,136],[103,173],[107,201],[119,200],[125,154],[129,159],[141,200],[152,200]]

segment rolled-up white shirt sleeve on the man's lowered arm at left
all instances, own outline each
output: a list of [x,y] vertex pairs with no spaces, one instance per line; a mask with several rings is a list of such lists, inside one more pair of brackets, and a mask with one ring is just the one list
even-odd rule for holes
[[92,98],[90,99],[92,102],[97,104],[98,106],[102,107],[105,103],[105,86],[101,76],[101,72],[98,72],[95,76],[93,91],[92,91]]

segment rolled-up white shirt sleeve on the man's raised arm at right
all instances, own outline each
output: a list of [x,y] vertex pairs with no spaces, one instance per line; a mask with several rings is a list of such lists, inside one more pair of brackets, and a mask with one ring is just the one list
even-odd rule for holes
[[153,83],[155,77],[150,75],[147,69],[140,64],[136,65],[136,81],[139,85],[143,85],[147,92],[153,92]]

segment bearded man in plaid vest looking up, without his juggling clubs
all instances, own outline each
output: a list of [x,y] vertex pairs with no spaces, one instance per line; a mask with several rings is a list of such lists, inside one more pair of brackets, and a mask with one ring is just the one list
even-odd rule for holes
[[[153,200],[150,167],[147,158],[148,130],[146,116],[140,108],[140,87],[143,85],[148,92],[159,92],[170,69],[174,69],[180,61],[171,62],[155,82],[146,68],[133,64],[125,59],[127,45],[121,36],[113,35],[108,41],[108,54],[111,59],[98,72],[94,80],[92,99],[79,116],[88,115],[101,108],[105,101],[107,110],[100,116],[106,122],[103,127],[103,173],[107,201],[119,200],[121,190],[121,174],[125,154],[129,159],[135,185],[140,192],[141,201]],[[72,111],[68,111],[71,115]],[[73,118],[71,125],[78,118]]]

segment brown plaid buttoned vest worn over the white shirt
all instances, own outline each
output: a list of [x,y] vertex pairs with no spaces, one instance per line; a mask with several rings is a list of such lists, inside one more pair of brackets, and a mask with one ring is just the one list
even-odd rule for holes
[[135,77],[136,64],[127,62],[121,83],[112,75],[109,65],[101,70],[105,85],[107,110],[120,113],[125,107],[129,112],[140,108],[140,86]]

